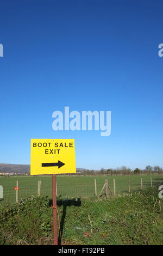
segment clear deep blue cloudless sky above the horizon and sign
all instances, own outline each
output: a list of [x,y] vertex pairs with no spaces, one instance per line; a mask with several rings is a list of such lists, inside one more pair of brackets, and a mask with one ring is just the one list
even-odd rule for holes
[[[163,167],[162,1],[1,1],[0,162],[74,138],[76,166]],[[53,111],[111,111],[111,135],[54,131]]]

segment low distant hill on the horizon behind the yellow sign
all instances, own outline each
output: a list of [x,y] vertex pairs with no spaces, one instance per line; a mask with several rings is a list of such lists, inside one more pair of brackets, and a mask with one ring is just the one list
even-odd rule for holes
[[[77,168],[77,172],[83,172],[86,169]],[[30,164],[9,164],[0,163],[0,173],[30,173]]]

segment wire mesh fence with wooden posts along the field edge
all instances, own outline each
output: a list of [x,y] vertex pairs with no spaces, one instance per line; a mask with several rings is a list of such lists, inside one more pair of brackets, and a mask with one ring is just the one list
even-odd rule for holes
[[[159,186],[161,184],[160,182],[163,181],[162,178],[163,177],[161,177],[161,180],[152,180],[152,178],[148,176],[148,179],[139,178],[139,180],[131,181],[129,178],[126,178],[125,180],[123,179],[123,182],[120,178],[119,180],[118,178],[114,180],[109,179],[109,182],[107,183],[109,186],[109,194],[123,194],[126,192],[128,193],[141,190],[142,188]],[[97,182],[94,182],[94,180],[95,179],[92,180],[91,184],[57,184],[57,196],[59,198],[87,198],[99,196],[100,192],[102,191],[102,187],[104,186],[104,182],[98,183],[98,179],[96,179]],[[27,198],[35,198],[37,196],[52,197],[52,184],[41,184],[40,182],[40,190],[39,182],[37,186],[18,186],[18,190],[14,190],[14,187],[3,186],[3,199],[1,199],[0,196],[0,205],[4,203],[21,202]],[[101,196],[106,196],[105,187],[101,193]]]

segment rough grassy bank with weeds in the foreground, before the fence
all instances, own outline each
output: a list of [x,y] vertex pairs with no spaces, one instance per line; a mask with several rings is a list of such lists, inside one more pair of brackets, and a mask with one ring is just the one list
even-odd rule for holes
[[[50,197],[40,197],[1,206],[0,244],[51,245],[51,204]],[[161,245],[162,210],[156,188],[107,199],[58,198],[59,240],[69,245]]]

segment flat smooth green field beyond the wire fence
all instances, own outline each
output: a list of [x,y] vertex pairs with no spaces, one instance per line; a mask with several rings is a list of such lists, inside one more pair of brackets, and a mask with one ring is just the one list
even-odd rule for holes
[[[97,183],[97,195],[108,179],[109,187],[114,190],[113,179],[116,183],[116,194],[128,192],[128,182],[130,179],[131,192],[141,189],[141,178],[143,188],[163,184],[162,175],[124,175],[124,176],[59,176],[57,175],[58,196],[61,198],[69,197],[93,197],[95,196],[94,179]],[[9,176],[0,177],[0,185],[3,186],[3,202],[15,202],[16,200],[16,180],[18,180],[18,199],[24,200],[28,197],[37,196],[37,181],[41,180],[41,196],[52,195],[52,176]],[[105,191],[104,191],[105,192]]]

